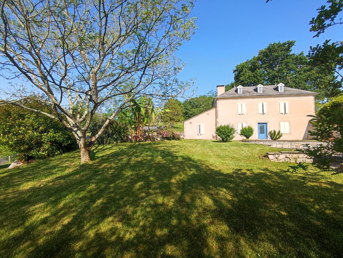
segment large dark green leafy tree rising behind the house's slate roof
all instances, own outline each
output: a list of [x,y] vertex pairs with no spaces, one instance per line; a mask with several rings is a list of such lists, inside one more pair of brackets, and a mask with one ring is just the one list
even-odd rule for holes
[[303,52],[292,53],[294,45],[295,41],[271,43],[257,56],[238,64],[234,69],[235,82],[230,87],[283,82],[287,87],[317,91],[318,101],[340,94],[342,83],[335,81],[334,72],[311,66]]

